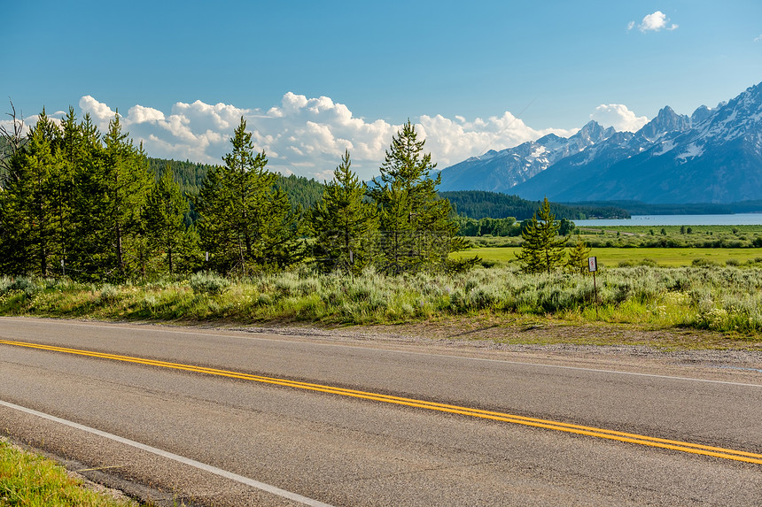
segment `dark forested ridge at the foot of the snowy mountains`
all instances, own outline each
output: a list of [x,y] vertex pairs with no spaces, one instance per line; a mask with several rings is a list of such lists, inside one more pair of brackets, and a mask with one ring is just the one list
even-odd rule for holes
[[[540,202],[527,201],[519,196],[508,196],[497,192],[462,190],[439,192],[439,196],[449,199],[458,215],[471,219],[531,219],[540,207]],[[629,219],[630,213],[615,206],[595,206],[576,204],[550,204],[550,211],[556,219]]]

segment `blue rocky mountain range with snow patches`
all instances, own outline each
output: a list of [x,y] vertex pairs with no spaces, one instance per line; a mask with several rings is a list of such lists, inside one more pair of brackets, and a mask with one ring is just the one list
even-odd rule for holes
[[727,204],[762,199],[762,83],[691,116],[666,106],[639,131],[595,121],[441,171],[439,190],[487,190],[556,202]]

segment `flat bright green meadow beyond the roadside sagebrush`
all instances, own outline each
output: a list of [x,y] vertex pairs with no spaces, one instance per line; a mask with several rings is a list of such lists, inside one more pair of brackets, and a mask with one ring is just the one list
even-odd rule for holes
[[[455,252],[453,257],[478,255],[486,261],[507,264],[516,262],[518,250],[518,247],[479,248]],[[705,259],[719,265],[725,265],[728,259],[735,259],[731,262],[746,264],[758,257],[762,258],[762,249],[595,248],[591,250],[590,255],[598,257],[598,265],[603,267],[614,267],[623,262],[640,264],[644,259],[650,259],[659,266],[674,267],[691,265],[695,259]]]

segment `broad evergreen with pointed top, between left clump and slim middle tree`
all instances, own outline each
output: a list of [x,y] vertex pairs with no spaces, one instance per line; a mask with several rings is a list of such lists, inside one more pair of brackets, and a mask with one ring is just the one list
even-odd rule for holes
[[243,117],[230,142],[225,166],[207,173],[196,200],[198,233],[212,267],[245,275],[297,262],[302,249],[291,204],[276,188],[276,174],[265,169],[264,151],[253,155]]

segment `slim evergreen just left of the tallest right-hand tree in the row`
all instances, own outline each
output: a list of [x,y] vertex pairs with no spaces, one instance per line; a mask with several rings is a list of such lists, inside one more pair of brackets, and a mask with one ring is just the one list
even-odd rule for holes
[[349,151],[323,188],[323,198],[309,212],[315,234],[315,260],[323,272],[360,273],[372,261],[377,231],[375,207],[363,201],[366,186],[350,169]]

